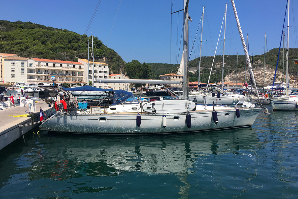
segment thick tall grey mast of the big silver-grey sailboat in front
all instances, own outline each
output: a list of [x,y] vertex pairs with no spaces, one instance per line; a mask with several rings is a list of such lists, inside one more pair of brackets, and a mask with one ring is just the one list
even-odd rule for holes
[[188,97],[188,0],[184,0],[184,26],[183,26],[183,99],[187,100]]

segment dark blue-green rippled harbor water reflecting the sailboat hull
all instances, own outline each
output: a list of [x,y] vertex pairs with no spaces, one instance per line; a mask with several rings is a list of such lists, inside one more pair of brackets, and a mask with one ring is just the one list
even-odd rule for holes
[[297,120],[277,111],[204,133],[27,133],[0,151],[0,198],[297,198]]

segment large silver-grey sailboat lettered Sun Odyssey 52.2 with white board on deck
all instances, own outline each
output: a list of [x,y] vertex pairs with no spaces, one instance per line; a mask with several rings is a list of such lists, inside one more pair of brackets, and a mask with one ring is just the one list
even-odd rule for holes
[[[184,0],[184,74],[182,82],[184,99],[188,97],[188,2],[188,0]],[[235,9],[235,5],[233,7]],[[238,17],[236,17],[236,19],[238,19]],[[238,28],[239,27],[240,25]],[[118,80],[97,79],[97,81],[113,83]],[[121,81],[133,83],[149,82],[153,84],[177,84],[180,82],[132,79]],[[195,105],[195,103],[190,100],[160,100],[142,103],[138,109],[138,113],[94,114],[91,112],[89,114],[80,114],[75,110],[75,107],[68,107],[68,104],[70,105],[70,103],[63,102],[63,108],[58,110],[56,107],[56,111],[53,110],[55,114],[45,120],[40,125],[39,129],[61,133],[121,135],[215,131],[227,128],[250,127],[261,111],[261,108]]]

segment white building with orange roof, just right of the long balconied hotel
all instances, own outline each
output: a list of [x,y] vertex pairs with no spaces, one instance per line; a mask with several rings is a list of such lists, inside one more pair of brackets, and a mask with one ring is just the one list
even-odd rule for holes
[[[105,62],[94,62],[94,75],[93,75],[93,62],[89,61],[89,71],[88,71],[88,60],[87,59],[78,59],[78,62],[84,65],[84,80],[85,82],[92,81],[93,78],[97,79],[108,79],[109,68],[108,64]],[[88,79],[89,76],[89,79]],[[97,88],[108,89],[107,83],[99,83],[94,81],[94,86]]]

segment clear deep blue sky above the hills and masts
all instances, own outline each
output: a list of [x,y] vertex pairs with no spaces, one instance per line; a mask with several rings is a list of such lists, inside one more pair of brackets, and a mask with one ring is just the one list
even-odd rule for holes
[[[183,0],[12,0],[1,2],[0,19],[11,22],[30,21],[84,34],[98,3],[98,10],[87,35],[92,33],[97,36],[103,44],[114,49],[125,62],[131,62],[133,59],[148,63],[180,62],[183,13],[172,15],[172,50],[170,13],[171,10],[174,12],[183,9]],[[244,54],[231,2],[190,0],[189,14],[193,20],[189,29],[190,48],[201,19],[202,6],[205,7],[202,56],[214,55],[225,3],[228,4],[225,54]],[[254,55],[264,53],[265,33],[268,50],[278,48],[286,0],[235,0],[235,4],[245,39],[246,35],[249,35],[250,55],[252,52]],[[297,8],[298,1],[290,0],[290,26],[296,25],[293,10]],[[285,26],[286,24],[287,22]],[[199,56],[200,31],[201,27],[191,59]],[[290,27],[289,43],[290,48],[297,48],[297,27]],[[222,53],[221,41],[216,54]]]

